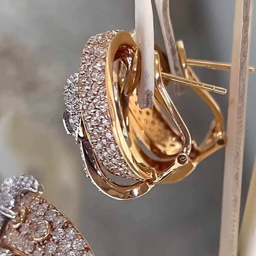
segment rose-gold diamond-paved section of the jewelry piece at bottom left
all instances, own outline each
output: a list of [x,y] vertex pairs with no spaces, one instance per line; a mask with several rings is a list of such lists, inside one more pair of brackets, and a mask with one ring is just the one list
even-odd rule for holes
[[94,256],[87,241],[52,204],[35,193],[16,203],[15,212],[25,209],[26,218],[18,227],[11,221],[1,239],[11,250],[33,256]]

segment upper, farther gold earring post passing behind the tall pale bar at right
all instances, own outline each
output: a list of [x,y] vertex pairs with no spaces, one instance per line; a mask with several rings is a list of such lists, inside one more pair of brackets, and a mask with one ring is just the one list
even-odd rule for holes
[[[230,70],[231,64],[224,63],[224,62],[215,62],[215,61],[208,61],[208,60],[197,60],[197,59],[187,59],[187,64],[189,66],[196,66],[196,67],[203,67],[203,68],[210,68],[210,69],[217,69],[217,70]],[[254,72],[254,67],[249,67],[249,72]]]

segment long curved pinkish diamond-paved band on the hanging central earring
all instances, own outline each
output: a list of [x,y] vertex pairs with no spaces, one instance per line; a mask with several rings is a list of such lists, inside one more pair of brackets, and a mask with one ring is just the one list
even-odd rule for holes
[[85,45],[79,69],[79,99],[89,140],[99,161],[112,174],[136,180],[138,177],[131,171],[117,146],[108,111],[106,53],[117,33],[109,31],[95,35]]

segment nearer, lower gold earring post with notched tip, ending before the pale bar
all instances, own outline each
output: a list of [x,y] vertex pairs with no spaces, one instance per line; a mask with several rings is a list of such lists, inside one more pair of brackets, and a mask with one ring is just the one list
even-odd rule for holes
[[186,78],[183,78],[183,77],[180,77],[180,76],[175,76],[175,75],[172,75],[172,74],[167,74],[167,73],[164,73],[164,72],[161,72],[161,75],[165,79],[172,80],[174,82],[182,83],[182,84],[185,84],[185,85],[201,88],[201,89],[204,89],[204,90],[212,91],[212,92],[215,92],[215,93],[218,93],[218,94],[225,95],[226,92],[227,92],[227,90],[223,87],[193,81],[193,80],[190,80],[190,79],[186,79]]

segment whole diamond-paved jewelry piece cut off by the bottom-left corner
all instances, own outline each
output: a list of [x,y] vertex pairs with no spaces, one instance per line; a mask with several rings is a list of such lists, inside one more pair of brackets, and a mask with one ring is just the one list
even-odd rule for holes
[[72,222],[41,197],[32,176],[4,180],[0,188],[0,255],[94,256]]

